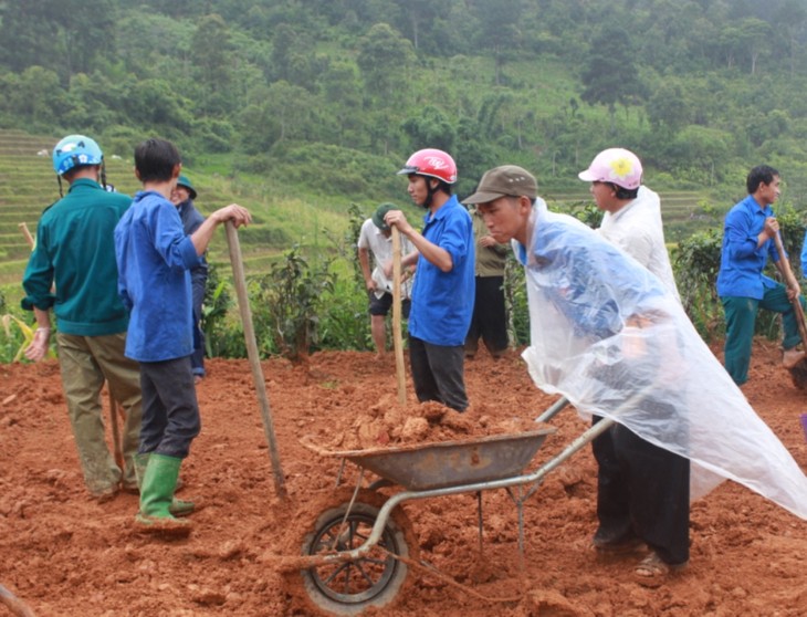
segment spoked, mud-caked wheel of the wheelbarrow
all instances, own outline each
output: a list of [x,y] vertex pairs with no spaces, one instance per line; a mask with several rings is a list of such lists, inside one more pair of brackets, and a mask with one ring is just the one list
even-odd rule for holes
[[[305,533],[303,555],[350,551],[369,537],[386,498],[370,490],[359,491],[345,519],[352,495],[353,490],[333,495],[331,505]],[[379,542],[363,558],[300,572],[307,600],[312,608],[327,615],[358,615],[369,607],[389,606],[404,587],[408,571],[394,555],[417,558],[417,553],[411,523],[397,508]]]

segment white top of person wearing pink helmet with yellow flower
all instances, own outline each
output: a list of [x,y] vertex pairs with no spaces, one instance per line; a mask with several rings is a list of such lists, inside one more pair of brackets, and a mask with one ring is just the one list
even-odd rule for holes
[[672,274],[670,255],[664,245],[661,200],[658,194],[646,186],[639,187],[639,194],[633,201],[618,212],[605,213],[597,231],[661,279],[673,295],[681,300]]

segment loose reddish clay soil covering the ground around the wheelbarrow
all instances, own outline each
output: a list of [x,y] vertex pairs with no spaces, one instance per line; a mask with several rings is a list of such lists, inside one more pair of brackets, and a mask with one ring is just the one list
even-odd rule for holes
[[[799,425],[807,394],[793,387],[778,359],[774,344],[757,342],[743,390],[807,469]],[[401,410],[391,356],[382,364],[369,353],[315,354],[297,366],[264,362],[289,492],[279,499],[249,364],[212,359],[208,367],[198,389],[202,432],[182,468],[180,492],[203,508],[192,515],[190,536],[171,541],[133,531],[135,495],[120,493],[104,504],[88,498],[56,363],[0,366],[0,584],[35,615],[310,615],[300,599],[300,576],[281,574],[282,557],[296,556],[301,534],[333,502],[340,459],[313,452],[302,437],[338,450],[374,440],[394,446],[462,438],[463,431],[486,435],[523,427],[554,400],[533,386],[516,353],[499,362],[481,353],[467,363],[472,406],[461,418],[418,406],[411,384],[410,402]],[[404,431],[416,417],[421,419]],[[573,409],[551,423],[557,432],[531,469],[586,428]],[[450,430],[433,432],[436,426]],[[355,467],[348,464],[345,475],[355,481]],[[589,547],[595,477],[586,447],[526,501],[523,564],[517,511],[504,491],[483,493],[481,556],[474,495],[406,502],[409,540],[440,575],[410,568],[395,604],[369,613],[807,615],[807,522],[725,482],[693,504],[689,567],[648,586],[632,572],[641,551],[606,560]],[[11,613],[0,604],[0,616],[6,614]]]

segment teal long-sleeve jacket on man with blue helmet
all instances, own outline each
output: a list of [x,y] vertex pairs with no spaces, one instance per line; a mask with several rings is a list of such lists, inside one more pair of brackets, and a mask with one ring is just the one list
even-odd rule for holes
[[132,205],[88,179],[48,208],[36,227],[36,248],[25,268],[22,307],[53,308],[63,334],[104,336],[126,332],[128,312],[117,294],[115,226]]

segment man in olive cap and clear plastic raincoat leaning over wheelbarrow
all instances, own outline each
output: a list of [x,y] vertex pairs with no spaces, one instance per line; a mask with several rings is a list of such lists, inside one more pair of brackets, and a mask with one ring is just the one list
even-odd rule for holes
[[631,525],[614,544],[647,545],[640,581],[687,565],[690,501],[724,478],[807,519],[804,473],[657,276],[580,221],[549,212],[521,167],[491,169],[464,201],[496,241],[516,241],[533,380],[617,422]]

